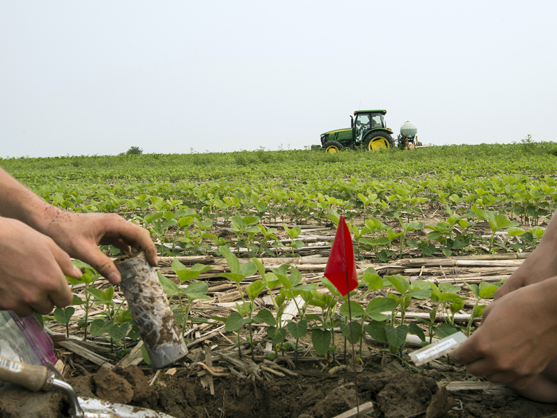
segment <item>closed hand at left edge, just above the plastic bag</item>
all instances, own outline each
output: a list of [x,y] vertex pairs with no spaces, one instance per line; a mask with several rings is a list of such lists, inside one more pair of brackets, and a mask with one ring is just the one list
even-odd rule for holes
[[0,217],[0,310],[29,316],[67,307],[72,293],[64,275],[77,278],[81,272],[51,238]]

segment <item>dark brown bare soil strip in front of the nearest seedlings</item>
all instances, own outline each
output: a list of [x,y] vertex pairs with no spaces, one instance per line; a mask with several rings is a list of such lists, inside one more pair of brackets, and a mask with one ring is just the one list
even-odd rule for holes
[[[207,375],[199,378],[201,369],[195,366],[163,369],[151,386],[155,371],[138,366],[113,371],[100,368],[96,373],[76,373],[68,380],[78,396],[150,408],[175,418],[332,418],[356,406],[350,366],[329,373],[329,367],[322,371],[320,362],[298,362],[297,376],[284,378],[255,367],[254,373],[242,378],[213,377],[214,395],[210,379]],[[372,401],[374,407],[362,417],[538,418],[557,413],[557,405],[528,401],[510,389],[447,392],[447,382],[469,378],[462,371],[411,373],[387,355],[364,359],[364,366],[357,369],[359,404]],[[69,416],[70,405],[61,392],[31,393],[12,385],[0,388],[2,418]]]

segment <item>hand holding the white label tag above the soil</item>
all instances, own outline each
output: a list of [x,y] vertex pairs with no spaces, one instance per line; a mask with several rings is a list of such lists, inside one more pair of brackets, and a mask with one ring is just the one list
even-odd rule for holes
[[487,307],[482,326],[451,351],[475,376],[521,389],[557,355],[557,277],[518,288]]

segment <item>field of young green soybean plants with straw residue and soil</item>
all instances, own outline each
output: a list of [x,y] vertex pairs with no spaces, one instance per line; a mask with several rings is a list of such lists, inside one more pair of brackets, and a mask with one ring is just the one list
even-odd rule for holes
[[[356,372],[370,417],[425,416],[432,396],[441,406],[431,417],[557,412],[446,357],[425,367],[409,359],[434,339],[473,333],[542,240],[557,208],[557,144],[5,158],[0,167],[54,206],[118,213],[157,245],[189,354],[152,369],[123,293],[75,261],[84,276],[68,279],[74,305],[39,319],[80,390],[95,392],[100,365],[120,374],[139,365],[151,395],[116,401],[175,417],[336,417],[356,405]],[[340,215],[359,275],[352,318],[323,277]]]

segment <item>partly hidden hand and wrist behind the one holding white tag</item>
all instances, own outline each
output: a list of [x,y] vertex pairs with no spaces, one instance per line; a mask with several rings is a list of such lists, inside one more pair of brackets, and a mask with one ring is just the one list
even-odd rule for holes
[[524,260],[524,263],[495,292],[495,299],[518,288],[557,276],[557,223],[551,222],[540,245]]

